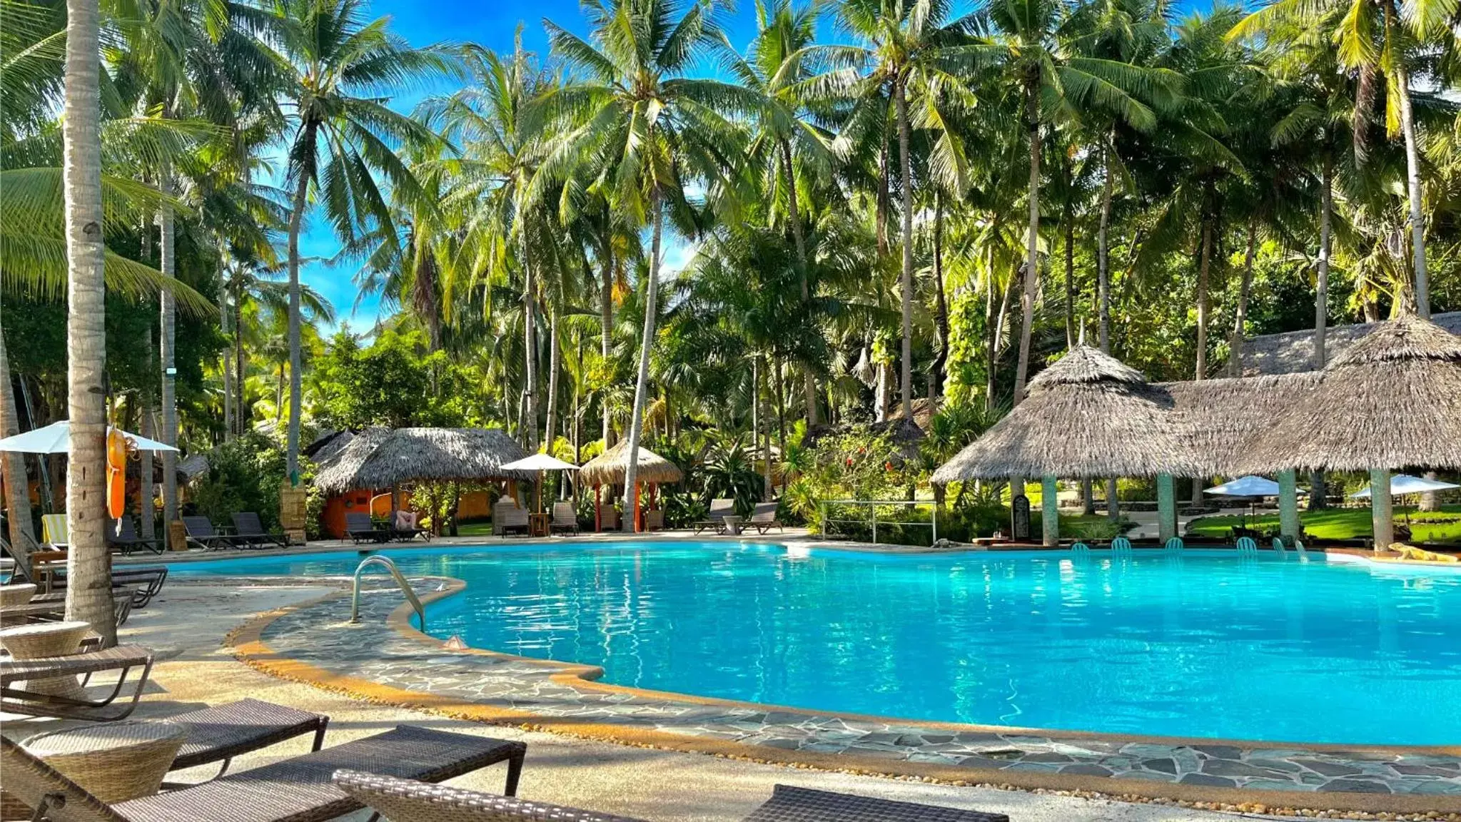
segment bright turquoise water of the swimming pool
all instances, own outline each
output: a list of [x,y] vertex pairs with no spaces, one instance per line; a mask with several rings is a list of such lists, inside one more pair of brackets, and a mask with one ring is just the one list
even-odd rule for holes
[[[890,556],[773,545],[386,550],[469,583],[435,637],[617,685],[906,718],[1461,742],[1461,575],[1233,552]],[[177,564],[349,574],[355,553]]]

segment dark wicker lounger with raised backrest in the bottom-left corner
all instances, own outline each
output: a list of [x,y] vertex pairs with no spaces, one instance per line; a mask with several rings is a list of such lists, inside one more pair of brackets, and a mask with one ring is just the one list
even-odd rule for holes
[[[107,804],[37,759],[0,740],[4,790],[56,822],[323,822],[362,807],[330,783],[332,774],[362,769],[434,783],[507,762],[516,791],[526,745],[412,726],[326,748],[210,783]],[[54,810],[61,810],[56,813]]]

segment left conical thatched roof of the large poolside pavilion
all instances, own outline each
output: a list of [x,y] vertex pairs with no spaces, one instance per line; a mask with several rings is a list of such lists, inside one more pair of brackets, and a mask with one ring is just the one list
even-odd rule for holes
[[1024,402],[934,472],[934,482],[1199,475],[1180,431],[1170,396],[1110,355],[1078,346],[1031,380]]

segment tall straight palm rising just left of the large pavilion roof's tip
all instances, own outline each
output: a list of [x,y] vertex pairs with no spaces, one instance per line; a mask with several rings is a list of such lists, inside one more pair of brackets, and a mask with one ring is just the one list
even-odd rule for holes
[[[947,128],[950,107],[973,107],[973,92],[966,76],[977,66],[979,53],[970,38],[972,18],[950,20],[953,4],[947,0],[847,0],[839,6],[843,25],[863,41],[861,47],[821,47],[833,63],[849,67],[821,77],[820,96],[840,93],[856,101],[847,126],[839,136],[839,150],[846,153],[850,139],[887,121],[888,101],[899,140],[899,187],[903,220],[901,291],[901,374],[903,418],[913,419],[913,161],[910,155],[912,118],[909,102],[920,110],[919,126],[935,131],[929,168],[950,188],[964,188],[969,161],[958,133]],[[853,66],[866,66],[865,74]],[[884,178],[884,185],[887,184]]]

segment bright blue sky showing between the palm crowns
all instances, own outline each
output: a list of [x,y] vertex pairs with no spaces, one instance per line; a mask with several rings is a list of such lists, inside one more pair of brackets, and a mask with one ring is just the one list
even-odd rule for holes
[[[1176,0],[1176,3],[1183,10],[1210,4],[1207,0]],[[413,45],[454,41],[511,51],[513,38],[522,25],[523,47],[546,55],[543,18],[576,34],[587,34],[577,0],[374,0],[371,10],[377,16],[390,16],[393,29]],[[738,0],[736,12],[729,16],[726,34],[739,50],[749,44],[755,37],[755,0]],[[411,89],[394,99],[392,107],[409,111],[427,93],[450,92],[451,88],[449,83],[441,83],[438,89]],[[305,232],[300,238],[301,257],[327,260],[339,248],[339,241],[324,220],[308,219]],[[671,241],[665,251],[665,267],[678,269],[690,251],[682,242]],[[354,330],[365,331],[380,315],[380,298],[378,295],[359,298],[359,291],[352,282],[356,267],[355,261],[335,267],[321,261],[308,263],[301,272],[301,279],[329,298],[340,323],[349,323]]]

